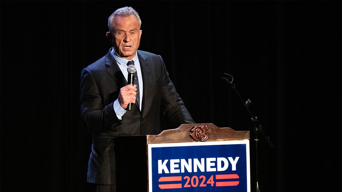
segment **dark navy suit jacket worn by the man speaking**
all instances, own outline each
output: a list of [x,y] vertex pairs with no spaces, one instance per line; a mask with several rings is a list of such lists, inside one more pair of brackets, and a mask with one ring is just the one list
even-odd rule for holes
[[117,118],[113,102],[127,81],[111,50],[82,71],[81,118],[83,126],[93,134],[88,164],[90,183],[116,184],[115,137],[159,134],[160,114],[165,114],[174,128],[195,123],[176,93],[161,56],[140,50],[137,55],[144,86],[142,109],[134,105],[122,120]]

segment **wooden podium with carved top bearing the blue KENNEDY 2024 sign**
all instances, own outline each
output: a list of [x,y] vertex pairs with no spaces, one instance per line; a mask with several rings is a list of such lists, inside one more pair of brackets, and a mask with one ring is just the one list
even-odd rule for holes
[[250,192],[249,131],[182,124],[115,146],[118,192]]

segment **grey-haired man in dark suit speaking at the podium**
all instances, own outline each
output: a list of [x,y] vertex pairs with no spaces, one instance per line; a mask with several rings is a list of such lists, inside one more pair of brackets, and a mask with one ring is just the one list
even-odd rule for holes
[[[108,18],[108,27],[106,36],[113,48],[81,74],[81,118],[93,134],[88,182],[97,191],[115,191],[115,137],[159,134],[160,114],[174,128],[195,123],[161,56],[137,50],[142,34],[138,13],[131,7],[120,8]],[[127,83],[128,61],[136,67],[134,86]],[[130,103],[131,111],[125,110]]]

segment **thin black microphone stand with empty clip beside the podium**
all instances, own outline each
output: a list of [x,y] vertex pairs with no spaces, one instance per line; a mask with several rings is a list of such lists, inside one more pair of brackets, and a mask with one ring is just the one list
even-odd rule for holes
[[264,133],[264,128],[261,126],[258,117],[254,116],[251,109],[249,108],[249,104],[251,103],[251,100],[247,99],[247,101],[245,101],[244,99],[242,99],[240,93],[237,91],[235,84],[233,83],[233,76],[227,74],[227,73],[223,73],[224,77],[221,77],[221,80],[227,83],[230,83],[232,88],[234,88],[235,92],[237,93],[237,95],[240,97],[241,101],[244,103],[245,108],[248,110],[249,114],[252,116],[251,121],[254,123],[254,133],[255,133],[255,156],[256,156],[256,183],[257,183],[257,192],[260,192],[259,189],[259,182],[258,182],[258,134],[262,134],[264,136],[264,138],[266,139],[269,147],[274,148],[274,145],[272,143],[272,141],[269,139],[269,137],[267,137]]

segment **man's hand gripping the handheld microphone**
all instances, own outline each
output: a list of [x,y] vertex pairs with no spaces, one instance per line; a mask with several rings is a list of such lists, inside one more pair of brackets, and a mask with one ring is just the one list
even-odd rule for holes
[[136,85],[126,85],[120,88],[118,101],[122,109],[126,109],[128,104],[135,104]]

